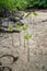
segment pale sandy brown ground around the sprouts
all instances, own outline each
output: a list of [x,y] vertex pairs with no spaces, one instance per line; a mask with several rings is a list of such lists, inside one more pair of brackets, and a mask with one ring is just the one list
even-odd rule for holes
[[[13,33],[13,43],[11,39],[11,34],[0,34],[0,56],[2,55],[13,55],[19,56],[17,61],[13,62],[9,67],[12,71],[47,71],[47,12],[37,11],[38,15],[28,15],[22,22],[28,24],[27,32],[32,34],[30,39],[30,62],[27,61],[27,42],[24,39],[21,32],[21,46],[19,40],[19,33]],[[11,63],[12,58],[0,58],[2,63]],[[4,70],[4,71],[8,71]]]

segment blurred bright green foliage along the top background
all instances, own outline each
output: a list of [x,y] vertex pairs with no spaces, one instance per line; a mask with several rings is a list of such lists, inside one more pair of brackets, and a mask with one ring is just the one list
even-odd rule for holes
[[46,9],[47,0],[0,0],[0,13],[9,10]]

